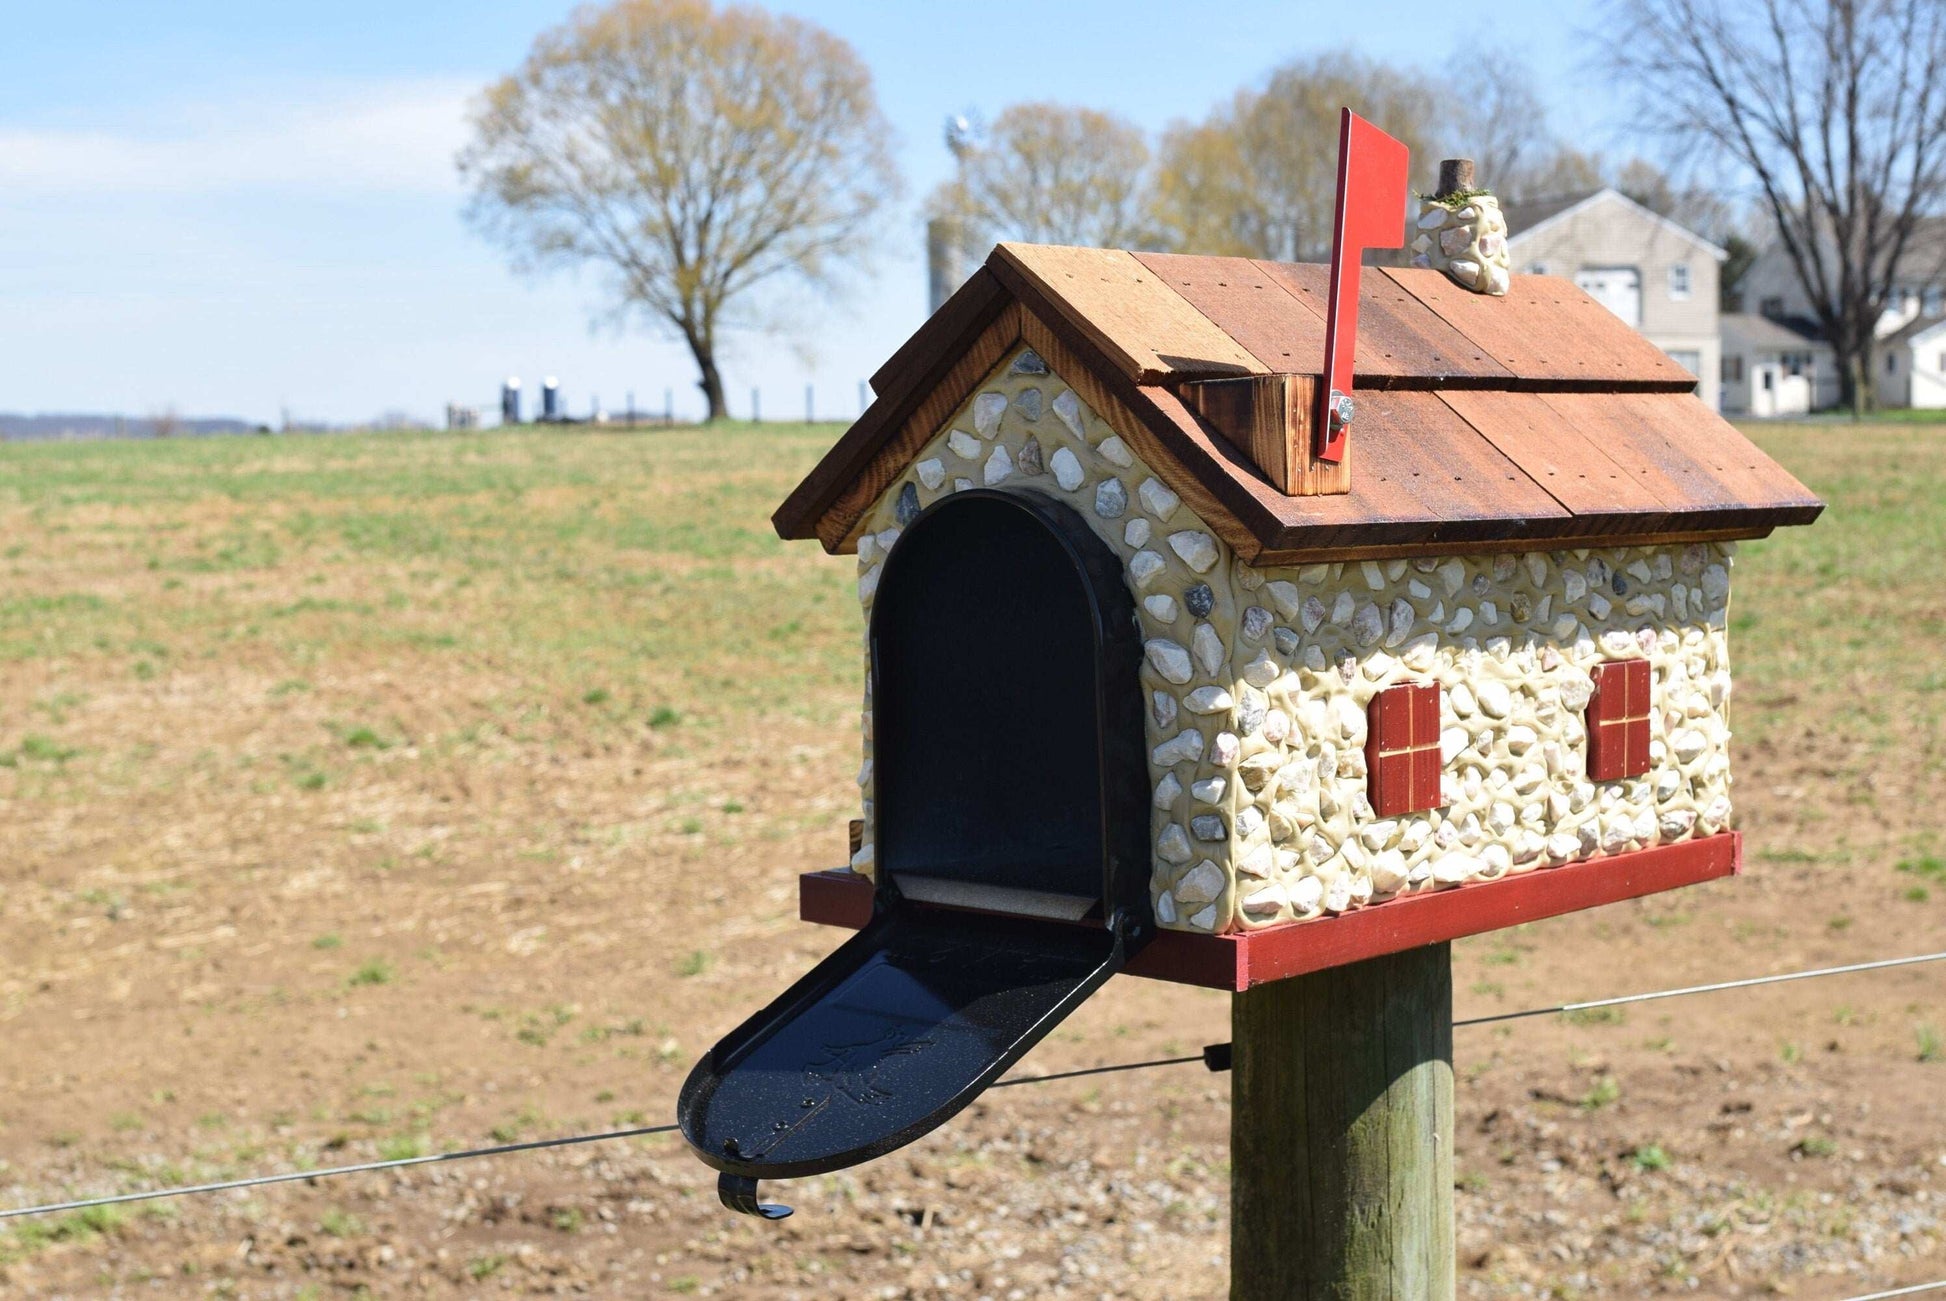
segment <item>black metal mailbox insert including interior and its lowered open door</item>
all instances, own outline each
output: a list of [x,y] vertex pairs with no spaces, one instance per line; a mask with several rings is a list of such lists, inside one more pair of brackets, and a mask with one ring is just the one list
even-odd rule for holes
[[1140,634],[1066,506],[965,490],[872,609],[872,924],[697,1062],[677,1118],[724,1206],[950,1120],[1154,933]]

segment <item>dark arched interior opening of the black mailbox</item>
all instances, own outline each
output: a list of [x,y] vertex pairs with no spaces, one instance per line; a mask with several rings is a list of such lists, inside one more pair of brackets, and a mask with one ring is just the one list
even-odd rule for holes
[[915,519],[872,607],[880,889],[1146,914],[1138,659],[1121,564],[1066,506],[961,492]]

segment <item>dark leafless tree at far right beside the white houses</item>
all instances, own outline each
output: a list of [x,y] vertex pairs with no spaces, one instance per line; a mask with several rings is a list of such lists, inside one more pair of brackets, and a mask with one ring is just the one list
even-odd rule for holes
[[1839,362],[1872,403],[1876,323],[1946,196],[1940,0],[1613,0],[1640,119],[1749,175]]

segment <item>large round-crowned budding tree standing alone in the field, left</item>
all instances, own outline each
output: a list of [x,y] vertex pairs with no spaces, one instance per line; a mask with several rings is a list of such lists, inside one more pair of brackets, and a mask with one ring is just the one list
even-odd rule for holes
[[765,282],[829,288],[899,191],[872,76],[839,37],[708,0],[617,0],[543,33],[459,156],[469,218],[518,266],[599,264],[673,331],[708,418],[730,313]]

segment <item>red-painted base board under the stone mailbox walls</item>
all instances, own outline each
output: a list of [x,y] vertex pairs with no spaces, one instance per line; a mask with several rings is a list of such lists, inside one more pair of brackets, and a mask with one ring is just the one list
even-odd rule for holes
[[[1315,922],[1228,935],[1166,930],[1142,945],[1127,972],[1236,992],[1368,957],[1732,877],[1740,871],[1744,871],[1744,836],[1730,830],[1586,863],[1535,867],[1498,881],[1401,895]],[[850,871],[808,871],[798,877],[798,916],[806,922],[858,930],[872,920],[872,881]]]

